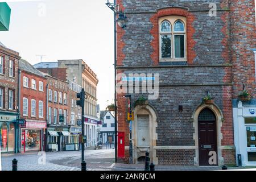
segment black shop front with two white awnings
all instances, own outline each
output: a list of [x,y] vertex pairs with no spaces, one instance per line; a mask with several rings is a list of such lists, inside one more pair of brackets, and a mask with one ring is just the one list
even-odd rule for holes
[[68,127],[48,127],[48,151],[65,151],[70,136]]

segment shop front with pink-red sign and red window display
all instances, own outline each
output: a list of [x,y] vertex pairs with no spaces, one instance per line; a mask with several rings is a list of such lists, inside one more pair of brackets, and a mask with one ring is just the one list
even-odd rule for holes
[[21,128],[21,151],[44,150],[44,132],[47,127],[46,122],[28,121]]

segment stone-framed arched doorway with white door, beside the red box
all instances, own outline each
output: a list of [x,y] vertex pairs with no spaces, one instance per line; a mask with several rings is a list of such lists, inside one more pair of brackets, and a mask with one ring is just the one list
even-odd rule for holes
[[150,162],[158,164],[156,158],[157,116],[155,110],[149,106],[136,106],[132,129],[133,163],[143,163],[146,151],[150,153]]

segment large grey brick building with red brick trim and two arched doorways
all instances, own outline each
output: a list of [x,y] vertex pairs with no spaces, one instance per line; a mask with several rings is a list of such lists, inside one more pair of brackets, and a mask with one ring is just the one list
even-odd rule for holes
[[[128,162],[131,154],[123,85],[148,76],[147,82],[154,80],[155,86],[159,80],[159,92],[156,88],[158,97],[153,99],[148,97],[152,93],[144,92],[148,101],[133,106],[133,163],[142,162],[149,151],[155,164],[235,165],[232,93],[241,84],[233,86],[233,81],[243,82],[238,79],[241,63],[248,82],[253,84],[250,77],[255,80],[248,71],[254,64],[254,2],[215,1],[216,16],[210,1],[117,3],[127,17],[126,27],[117,26],[117,80],[123,90],[117,95],[118,160]],[[234,69],[237,73],[232,75]],[[129,94],[133,102],[143,98],[142,90]],[[206,96],[213,104],[202,100],[209,99]]]

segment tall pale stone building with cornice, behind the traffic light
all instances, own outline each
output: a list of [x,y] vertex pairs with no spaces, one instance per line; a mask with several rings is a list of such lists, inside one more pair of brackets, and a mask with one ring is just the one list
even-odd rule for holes
[[97,125],[97,84],[96,73],[85,63],[84,60],[58,60],[57,62],[43,62],[34,65],[42,72],[54,75],[61,80],[67,80],[81,85],[85,89],[88,98],[85,100],[85,135],[87,136],[86,147],[95,146],[98,142]]

